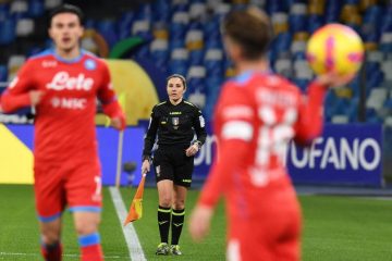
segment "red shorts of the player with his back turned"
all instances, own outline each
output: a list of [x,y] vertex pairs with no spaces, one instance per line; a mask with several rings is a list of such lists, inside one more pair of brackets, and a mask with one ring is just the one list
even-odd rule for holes
[[260,197],[246,221],[237,214],[229,217],[229,261],[301,260],[301,208],[294,194],[281,196]]

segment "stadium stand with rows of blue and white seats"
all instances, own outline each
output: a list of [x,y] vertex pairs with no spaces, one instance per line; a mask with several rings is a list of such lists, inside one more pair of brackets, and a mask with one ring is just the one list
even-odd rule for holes
[[[189,78],[188,98],[211,116],[221,83],[233,75],[222,52],[220,18],[232,9],[255,4],[271,16],[275,39],[271,69],[305,89],[314,77],[306,58],[306,41],[326,23],[343,23],[359,33],[367,61],[364,77],[327,98],[326,119],[333,123],[358,121],[358,104],[366,104],[366,121],[390,124],[392,112],[391,0],[0,0],[0,80],[10,80],[29,55],[50,47],[46,35],[48,12],[62,2],[86,11],[83,47],[101,57],[121,40],[137,36],[146,46],[133,53],[155,61],[167,74]],[[121,7],[121,8],[118,8]],[[365,83],[363,83],[365,79]],[[360,98],[366,86],[366,100]]]

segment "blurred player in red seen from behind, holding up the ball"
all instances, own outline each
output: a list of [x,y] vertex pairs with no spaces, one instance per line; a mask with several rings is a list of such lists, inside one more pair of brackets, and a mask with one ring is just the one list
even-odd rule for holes
[[353,76],[319,76],[304,99],[268,70],[271,26],[256,8],[230,13],[222,36],[237,76],[222,87],[216,108],[219,159],[191,216],[191,235],[200,240],[207,234],[223,194],[228,260],[299,260],[301,208],[284,166],[286,147],[291,139],[306,144],[320,134],[328,87]]

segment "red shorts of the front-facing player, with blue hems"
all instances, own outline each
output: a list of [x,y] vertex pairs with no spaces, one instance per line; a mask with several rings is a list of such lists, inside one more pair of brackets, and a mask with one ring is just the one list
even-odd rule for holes
[[70,211],[100,212],[101,171],[98,161],[78,163],[35,163],[35,197],[39,220],[59,217]]

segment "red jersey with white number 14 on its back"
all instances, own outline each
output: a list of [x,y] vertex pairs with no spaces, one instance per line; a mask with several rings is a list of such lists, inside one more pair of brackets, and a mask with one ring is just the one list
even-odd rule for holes
[[286,148],[293,138],[306,142],[321,133],[324,94],[323,86],[313,83],[304,99],[286,79],[260,72],[228,82],[215,114],[218,160],[199,203],[212,207],[224,192],[229,212],[244,214],[268,195],[291,188]]

